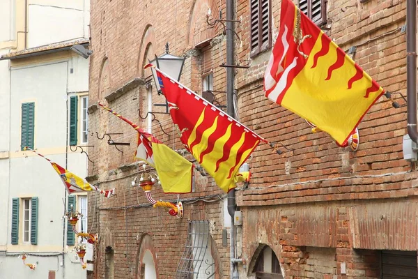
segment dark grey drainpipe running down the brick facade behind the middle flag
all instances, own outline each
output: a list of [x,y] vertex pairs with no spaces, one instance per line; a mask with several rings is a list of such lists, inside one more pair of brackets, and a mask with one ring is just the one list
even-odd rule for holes
[[[226,64],[233,65],[233,47],[234,47],[234,14],[235,14],[235,1],[226,0]],[[235,69],[232,67],[226,68],[226,112],[231,117],[234,115],[233,107],[233,93],[234,93],[234,81],[235,81]],[[236,231],[233,225],[233,216],[235,213],[235,189],[229,190],[228,193],[228,213],[231,216],[231,242],[230,242],[230,254],[231,254],[231,279],[239,278],[238,270],[235,269],[235,241]]]

